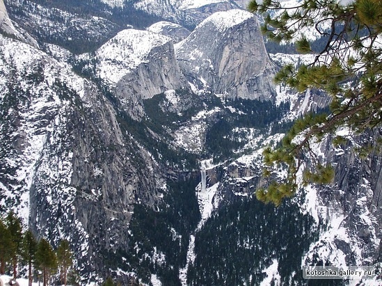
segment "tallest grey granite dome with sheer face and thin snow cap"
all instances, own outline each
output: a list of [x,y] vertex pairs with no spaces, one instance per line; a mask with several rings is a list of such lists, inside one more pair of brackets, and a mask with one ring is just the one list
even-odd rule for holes
[[177,60],[189,81],[230,99],[271,100],[272,66],[260,26],[243,10],[215,13],[175,45]]

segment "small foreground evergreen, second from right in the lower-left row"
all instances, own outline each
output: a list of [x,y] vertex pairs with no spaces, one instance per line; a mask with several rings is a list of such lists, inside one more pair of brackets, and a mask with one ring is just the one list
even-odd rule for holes
[[37,251],[35,253],[36,263],[42,270],[43,286],[47,286],[49,273],[57,269],[56,254],[46,239],[38,241]]

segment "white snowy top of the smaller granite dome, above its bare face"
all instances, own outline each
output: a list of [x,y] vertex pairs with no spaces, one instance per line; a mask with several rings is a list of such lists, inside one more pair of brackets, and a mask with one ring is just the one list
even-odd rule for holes
[[125,74],[147,62],[147,57],[154,47],[165,45],[170,40],[164,35],[150,31],[121,31],[97,50],[97,74],[110,84],[117,84]]

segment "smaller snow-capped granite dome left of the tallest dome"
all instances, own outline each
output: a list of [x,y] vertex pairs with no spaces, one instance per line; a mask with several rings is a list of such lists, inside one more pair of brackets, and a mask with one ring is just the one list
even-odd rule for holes
[[144,115],[142,100],[186,86],[173,42],[164,35],[121,31],[97,50],[96,59],[97,75],[115,88],[122,106],[136,120]]

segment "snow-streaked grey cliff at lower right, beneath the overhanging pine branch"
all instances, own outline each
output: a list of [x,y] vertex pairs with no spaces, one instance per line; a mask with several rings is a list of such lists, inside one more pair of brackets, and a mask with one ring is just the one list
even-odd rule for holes
[[307,265],[319,260],[346,265],[378,261],[382,219],[381,153],[378,148],[372,148],[360,159],[356,149],[370,138],[377,141],[382,130],[364,136],[351,136],[346,129],[341,133],[348,134],[346,145],[333,148],[330,140],[320,145],[324,158],[335,166],[333,185],[307,190],[305,202],[310,200],[310,206],[315,205],[308,208],[308,212],[317,223],[327,225],[305,255],[303,261]]

